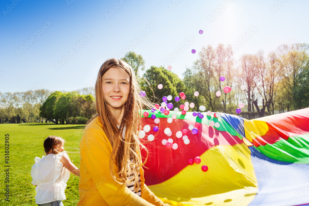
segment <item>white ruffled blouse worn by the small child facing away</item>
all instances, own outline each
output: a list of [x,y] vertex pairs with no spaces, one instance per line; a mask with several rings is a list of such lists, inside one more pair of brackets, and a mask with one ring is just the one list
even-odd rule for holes
[[36,187],[36,204],[44,204],[56,200],[66,200],[64,190],[70,178],[70,171],[60,162],[63,151],[59,154],[48,154],[36,157],[31,167],[32,184]]

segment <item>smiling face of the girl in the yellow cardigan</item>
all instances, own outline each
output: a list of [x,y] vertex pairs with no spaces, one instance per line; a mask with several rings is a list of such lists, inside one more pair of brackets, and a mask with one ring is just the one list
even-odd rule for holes
[[110,68],[102,77],[104,99],[111,109],[121,109],[130,91],[129,75],[118,68]]

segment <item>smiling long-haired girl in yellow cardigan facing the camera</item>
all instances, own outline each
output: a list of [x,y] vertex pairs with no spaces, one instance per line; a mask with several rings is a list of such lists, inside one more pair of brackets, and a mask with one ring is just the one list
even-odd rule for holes
[[[144,184],[139,95],[132,68],[115,58],[104,62],[95,84],[97,114],[80,147],[78,205],[163,205]],[[146,98],[144,98],[146,99]]]

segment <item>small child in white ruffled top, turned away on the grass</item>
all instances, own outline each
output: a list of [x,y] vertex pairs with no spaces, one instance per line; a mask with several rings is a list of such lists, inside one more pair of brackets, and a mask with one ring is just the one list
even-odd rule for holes
[[32,184],[36,186],[36,204],[39,206],[63,206],[64,190],[70,172],[79,176],[79,169],[64,151],[64,139],[49,136],[44,140],[46,156],[36,157],[31,168]]

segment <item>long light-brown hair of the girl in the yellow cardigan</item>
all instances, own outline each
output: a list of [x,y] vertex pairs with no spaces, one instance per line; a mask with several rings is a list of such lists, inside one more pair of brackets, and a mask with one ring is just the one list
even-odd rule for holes
[[[130,90],[126,103],[122,106],[124,115],[117,127],[117,121],[112,115],[106,100],[104,99],[102,89],[102,77],[110,68],[121,69],[130,77]],[[120,183],[134,182],[134,190],[139,191],[140,167],[145,164],[148,158],[148,150],[138,139],[138,131],[141,130],[141,111],[142,107],[153,107],[147,98],[139,95],[141,89],[138,86],[137,79],[133,73],[133,69],[122,60],[116,58],[108,59],[103,63],[99,70],[99,74],[95,83],[96,95],[96,116],[102,123],[103,130],[112,145],[112,155],[109,162],[110,174],[112,178]],[[91,120],[92,120],[91,119]],[[88,121],[91,122],[91,120]],[[122,132],[125,129],[125,140],[122,139]],[[142,163],[140,147],[146,150],[147,156]],[[114,162],[118,169],[118,177],[113,172]],[[128,180],[128,174],[133,174],[133,179]]]

